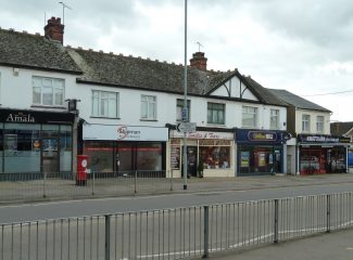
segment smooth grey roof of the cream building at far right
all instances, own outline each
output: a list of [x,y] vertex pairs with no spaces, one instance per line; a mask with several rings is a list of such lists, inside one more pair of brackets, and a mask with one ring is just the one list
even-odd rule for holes
[[275,94],[278,99],[281,99],[283,102],[286,102],[287,104],[292,105],[294,107],[298,107],[301,109],[326,112],[326,113],[331,112],[323,106],[319,106],[313,102],[310,102],[310,101],[307,101],[299,95],[295,95],[287,90],[269,89],[269,91],[273,94]]

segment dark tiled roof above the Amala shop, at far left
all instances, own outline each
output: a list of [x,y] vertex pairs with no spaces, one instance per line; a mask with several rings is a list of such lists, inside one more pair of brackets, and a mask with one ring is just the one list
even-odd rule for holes
[[0,64],[80,73],[61,43],[11,29],[0,29]]

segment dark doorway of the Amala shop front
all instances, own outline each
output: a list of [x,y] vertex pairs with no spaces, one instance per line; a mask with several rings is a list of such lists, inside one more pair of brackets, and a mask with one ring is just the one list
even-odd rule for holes
[[41,140],[41,172],[47,177],[59,172],[59,140],[56,138],[45,138]]

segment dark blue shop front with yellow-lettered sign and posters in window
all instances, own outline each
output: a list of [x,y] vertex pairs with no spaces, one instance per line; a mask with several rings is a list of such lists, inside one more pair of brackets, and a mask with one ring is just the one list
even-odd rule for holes
[[286,142],[283,131],[236,130],[238,176],[282,173]]

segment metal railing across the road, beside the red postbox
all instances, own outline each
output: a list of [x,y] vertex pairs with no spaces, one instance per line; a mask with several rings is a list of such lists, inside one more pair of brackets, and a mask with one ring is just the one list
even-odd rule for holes
[[71,172],[0,173],[0,203],[167,193],[181,181],[173,171],[91,171],[84,181]]

